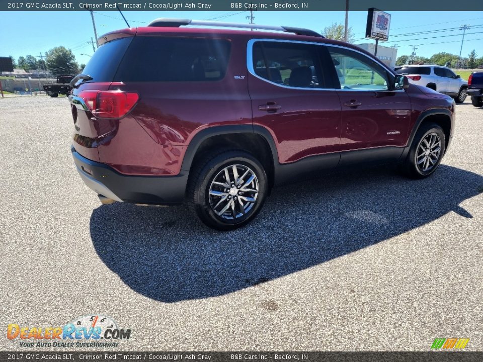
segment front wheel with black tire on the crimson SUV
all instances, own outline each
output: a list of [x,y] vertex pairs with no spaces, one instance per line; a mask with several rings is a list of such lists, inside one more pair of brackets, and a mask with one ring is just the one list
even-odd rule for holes
[[[437,155],[433,154],[434,151],[431,151],[430,154],[425,154],[424,152],[424,148],[428,147],[426,142],[431,135],[436,135],[437,137],[439,137],[440,144],[433,148],[430,147],[430,150],[436,150],[437,147],[440,147],[439,153],[437,153]],[[426,142],[424,141],[425,139]],[[434,139],[436,140],[436,137],[434,137]],[[445,147],[446,138],[443,129],[437,124],[424,122],[423,124],[421,124],[418,131],[416,132],[416,135],[414,136],[408,156],[401,164],[401,170],[406,176],[411,178],[426,178],[430,176],[431,174],[433,174],[434,171],[436,171],[439,164],[441,163],[441,159],[443,158],[445,152]],[[430,157],[430,159],[428,159],[428,157]],[[418,164],[417,159],[418,161],[424,163]],[[422,161],[423,159],[426,159],[426,161]],[[425,170],[424,168],[426,165],[428,165],[428,168]]]

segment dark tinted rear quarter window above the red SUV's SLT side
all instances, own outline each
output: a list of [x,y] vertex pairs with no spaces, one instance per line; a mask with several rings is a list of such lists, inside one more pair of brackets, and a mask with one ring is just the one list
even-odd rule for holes
[[216,81],[225,76],[229,55],[228,40],[138,36],[115,81]]

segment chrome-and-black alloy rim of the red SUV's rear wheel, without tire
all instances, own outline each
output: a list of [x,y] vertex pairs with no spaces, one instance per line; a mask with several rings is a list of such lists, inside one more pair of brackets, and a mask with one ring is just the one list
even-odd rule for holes
[[223,168],[209,189],[211,209],[223,219],[236,219],[255,205],[259,192],[258,178],[248,166],[241,164]]

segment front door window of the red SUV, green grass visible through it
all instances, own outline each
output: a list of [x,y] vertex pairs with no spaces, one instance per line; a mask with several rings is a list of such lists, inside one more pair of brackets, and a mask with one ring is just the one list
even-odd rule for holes
[[348,49],[328,47],[341,89],[386,91],[386,70],[366,57]]

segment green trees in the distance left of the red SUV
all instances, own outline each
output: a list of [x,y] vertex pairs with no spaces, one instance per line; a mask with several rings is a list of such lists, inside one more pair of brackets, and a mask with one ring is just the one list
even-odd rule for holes
[[72,51],[64,46],[50,49],[45,53],[44,59],[37,59],[31,54],[20,56],[18,59],[14,59],[13,56],[10,56],[10,58],[14,68],[24,69],[25,71],[39,69],[40,71],[49,71],[53,75],[78,74],[86,66],[86,64],[79,65],[75,61],[75,55]]

